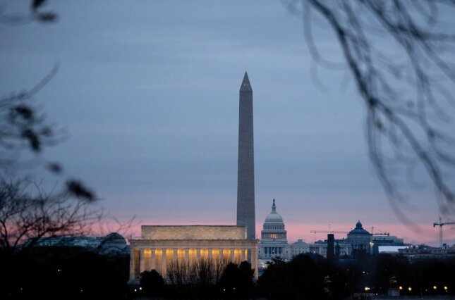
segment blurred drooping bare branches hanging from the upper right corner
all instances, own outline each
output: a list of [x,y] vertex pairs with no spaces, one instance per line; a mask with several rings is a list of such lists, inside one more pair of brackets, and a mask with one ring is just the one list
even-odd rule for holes
[[[350,70],[367,115],[369,156],[396,215],[404,176],[413,187],[415,168],[425,169],[445,215],[455,212],[455,35],[453,0],[282,1],[303,19],[313,59],[327,68]],[[334,32],[345,63],[320,54],[313,24]],[[406,175],[407,174],[407,175]]]

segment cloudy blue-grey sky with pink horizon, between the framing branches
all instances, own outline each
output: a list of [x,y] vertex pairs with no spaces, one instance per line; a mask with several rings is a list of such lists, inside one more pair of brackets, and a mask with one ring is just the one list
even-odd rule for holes
[[[1,8],[27,13],[28,5]],[[317,67],[301,18],[279,1],[49,1],[43,9],[58,21],[0,25],[0,94],[36,85],[59,63],[34,101],[67,139],[42,156],[95,189],[119,220],[134,215],[129,235],[141,224],[235,224],[238,90],[248,71],[257,235],[276,199],[290,242],[360,220],[437,244],[431,188],[402,204],[423,231],[405,227],[369,161],[351,75]],[[315,30],[323,54],[343,62],[332,32]],[[62,181],[34,172],[46,185]],[[444,237],[454,243],[454,227]]]

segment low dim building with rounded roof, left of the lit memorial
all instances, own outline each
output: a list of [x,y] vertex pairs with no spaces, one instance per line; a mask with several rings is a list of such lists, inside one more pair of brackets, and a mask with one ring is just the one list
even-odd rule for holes
[[[30,243],[30,240],[25,244]],[[67,246],[81,247],[91,251],[97,251],[99,254],[128,254],[126,240],[117,232],[112,232],[105,237],[43,237],[38,239],[37,246]]]

